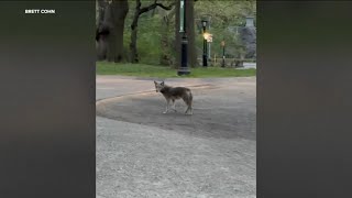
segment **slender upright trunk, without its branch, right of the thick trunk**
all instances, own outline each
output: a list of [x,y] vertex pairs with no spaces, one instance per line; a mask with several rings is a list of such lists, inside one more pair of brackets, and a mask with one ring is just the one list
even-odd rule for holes
[[140,18],[140,10],[141,10],[141,0],[135,1],[135,10],[134,16],[131,24],[131,63],[139,63],[139,54],[136,50],[136,40],[138,40],[138,25],[139,25],[139,18]]

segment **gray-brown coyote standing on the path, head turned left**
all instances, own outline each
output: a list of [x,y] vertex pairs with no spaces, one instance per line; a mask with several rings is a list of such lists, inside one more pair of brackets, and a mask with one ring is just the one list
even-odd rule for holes
[[170,87],[165,85],[164,81],[157,82],[154,81],[156,92],[161,92],[166,99],[166,109],[163,113],[169,111],[169,103],[172,103],[172,110],[176,112],[175,100],[183,99],[187,105],[185,113],[193,114],[193,95],[190,89],[186,87]]

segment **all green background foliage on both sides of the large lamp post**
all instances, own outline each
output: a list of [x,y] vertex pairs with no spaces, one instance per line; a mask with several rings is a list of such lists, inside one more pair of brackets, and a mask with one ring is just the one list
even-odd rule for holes
[[[154,0],[142,0],[142,8],[154,3]],[[173,0],[158,0],[165,6],[168,6]],[[124,48],[125,56],[129,56],[131,42],[131,23],[133,20],[135,0],[129,0],[130,11],[125,20],[124,28]],[[228,57],[237,57],[241,51],[239,37],[235,34],[235,26],[244,25],[246,15],[254,15],[256,11],[256,1],[216,1],[216,0],[197,0],[195,2],[195,28],[196,28],[196,48],[198,57],[202,54],[204,37],[201,34],[200,20],[202,18],[210,19],[213,34],[211,43],[211,57],[222,56],[221,41],[226,41],[226,54]],[[138,52],[140,63],[157,65],[162,53],[161,37],[165,33],[163,16],[169,15],[169,30],[167,32],[170,41],[167,53],[175,57],[173,42],[175,41],[175,14],[173,11],[165,11],[156,8],[155,11],[150,11],[140,16],[139,33],[138,33]],[[231,29],[232,28],[232,29]],[[164,50],[165,52],[165,50]]]

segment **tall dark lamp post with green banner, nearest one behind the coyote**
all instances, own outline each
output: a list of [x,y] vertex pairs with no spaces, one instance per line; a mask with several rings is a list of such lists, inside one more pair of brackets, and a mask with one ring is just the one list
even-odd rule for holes
[[188,75],[190,74],[189,67],[187,65],[187,32],[186,32],[186,0],[179,1],[179,32],[183,34],[182,46],[180,46],[180,67],[177,70],[177,75]]

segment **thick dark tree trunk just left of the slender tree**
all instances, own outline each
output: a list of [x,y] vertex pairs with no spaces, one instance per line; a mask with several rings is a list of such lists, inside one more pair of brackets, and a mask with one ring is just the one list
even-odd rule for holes
[[121,62],[123,57],[124,19],[129,12],[128,0],[114,0],[106,8],[103,23],[109,26],[107,40],[108,62]]

